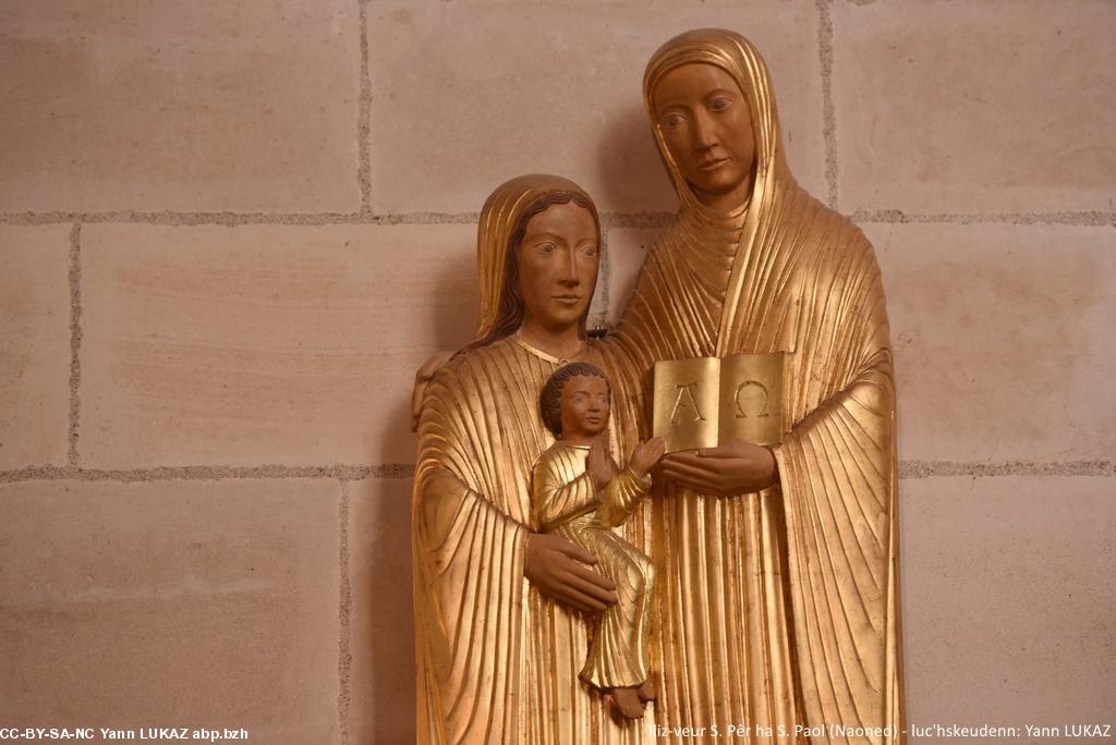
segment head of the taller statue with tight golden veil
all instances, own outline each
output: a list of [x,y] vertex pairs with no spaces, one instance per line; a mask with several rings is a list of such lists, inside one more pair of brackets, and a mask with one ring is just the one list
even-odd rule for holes
[[786,168],[767,65],[739,33],[700,29],[667,41],[647,62],[644,104],[686,207],[731,211],[764,174]]

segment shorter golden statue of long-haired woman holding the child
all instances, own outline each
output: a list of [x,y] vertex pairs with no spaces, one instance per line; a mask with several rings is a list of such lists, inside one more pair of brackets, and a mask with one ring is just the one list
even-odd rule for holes
[[[555,442],[543,384],[568,361],[606,366],[585,335],[596,207],[565,178],[514,178],[484,204],[478,252],[477,341],[430,381],[419,422],[419,742],[638,742],[643,729],[578,679],[590,615],[616,586],[594,555],[531,524],[531,467]],[[638,520],[624,528],[644,543]]]

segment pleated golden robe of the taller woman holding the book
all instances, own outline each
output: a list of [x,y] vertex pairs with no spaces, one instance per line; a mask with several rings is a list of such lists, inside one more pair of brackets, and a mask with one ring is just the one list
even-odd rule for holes
[[778,736],[820,725],[817,742],[895,742],[828,729],[899,722],[895,393],[879,272],[857,228],[789,176],[776,188],[750,244],[748,211],[684,210],[605,351],[629,370],[642,423],[622,447],[648,435],[656,360],[788,352],[793,424],[773,448],[779,483],[731,497],[658,486],[658,724],[749,725],[754,742],[768,741],[757,726]]

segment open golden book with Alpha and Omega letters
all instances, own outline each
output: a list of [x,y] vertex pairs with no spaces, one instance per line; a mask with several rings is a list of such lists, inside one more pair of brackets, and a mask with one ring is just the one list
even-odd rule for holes
[[783,352],[655,362],[654,433],[667,453],[782,442]]

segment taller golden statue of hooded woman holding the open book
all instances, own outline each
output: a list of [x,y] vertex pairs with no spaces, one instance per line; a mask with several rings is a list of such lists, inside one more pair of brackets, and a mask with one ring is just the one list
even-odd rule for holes
[[[795,183],[739,35],[666,42],[644,99],[682,207],[607,346],[642,381],[656,360],[786,352],[791,425],[770,448],[664,459],[658,732],[898,742],[895,387],[872,246]],[[632,417],[634,442],[646,404]]]

